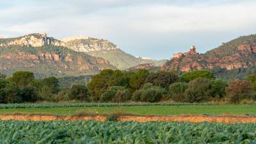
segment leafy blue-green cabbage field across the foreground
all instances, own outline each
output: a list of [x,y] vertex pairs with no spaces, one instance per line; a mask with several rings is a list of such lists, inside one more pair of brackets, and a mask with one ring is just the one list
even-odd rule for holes
[[0,121],[0,143],[256,143],[256,124]]

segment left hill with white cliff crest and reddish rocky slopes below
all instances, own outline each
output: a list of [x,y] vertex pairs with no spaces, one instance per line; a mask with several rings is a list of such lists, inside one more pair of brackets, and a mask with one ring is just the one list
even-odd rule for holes
[[103,58],[72,51],[45,34],[0,38],[0,72],[7,76],[18,70],[34,72],[36,77],[84,76],[107,68],[116,67]]

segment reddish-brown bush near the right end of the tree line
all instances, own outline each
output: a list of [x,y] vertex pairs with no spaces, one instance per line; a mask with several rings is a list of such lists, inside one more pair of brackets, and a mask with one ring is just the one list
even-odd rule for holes
[[228,100],[232,103],[239,103],[253,92],[252,81],[230,81],[228,87],[225,89],[228,95]]

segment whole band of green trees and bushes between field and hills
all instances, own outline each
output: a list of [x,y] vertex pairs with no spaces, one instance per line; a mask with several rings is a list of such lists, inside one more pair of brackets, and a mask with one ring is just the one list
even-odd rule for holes
[[173,71],[102,70],[87,84],[61,87],[56,77],[36,79],[33,72],[0,74],[0,103],[20,102],[231,102],[256,100],[256,74],[244,80],[216,79],[207,70],[179,76]]

